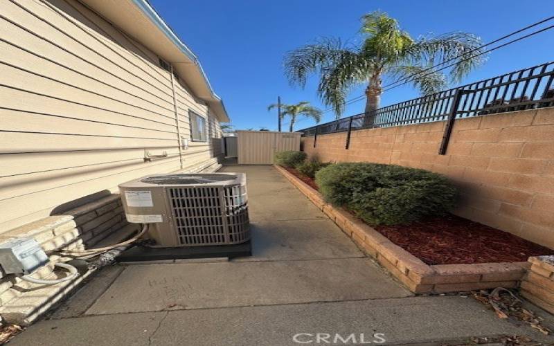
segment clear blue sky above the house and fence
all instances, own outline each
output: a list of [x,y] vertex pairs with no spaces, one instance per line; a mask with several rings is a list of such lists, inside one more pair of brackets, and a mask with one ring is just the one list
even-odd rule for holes
[[[283,75],[285,52],[317,37],[341,37],[359,42],[359,17],[383,10],[395,17],[412,37],[452,31],[474,33],[490,42],[507,33],[551,17],[554,1],[368,1],[368,0],[150,0],[181,39],[199,57],[216,93],[225,103],[236,129],[276,129],[276,102],[310,101],[327,109],[316,95],[317,79],[305,89],[292,88]],[[554,21],[544,26],[552,25]],[[554,60],[554,29],[492,52],[488,62],[465,82]],[[352,90],[348,99],[363,93]],[[401,86],[382,96],[382,106],[418,96],[411,86]],[[360,113],[364,101],[351,104],[343,116]],[[323,121],[334,119],[325,113]],[[285,120],[287,122],[287,120]],[[301,120],[295,129],[313,125]]]

